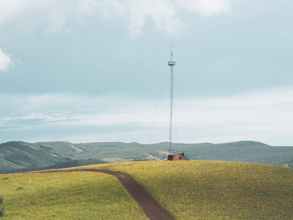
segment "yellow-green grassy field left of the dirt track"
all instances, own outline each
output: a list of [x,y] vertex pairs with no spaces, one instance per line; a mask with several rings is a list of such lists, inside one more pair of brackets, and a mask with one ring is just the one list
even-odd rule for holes
[[115,177],[93,172],[0,175],[1,219],[147,219]]

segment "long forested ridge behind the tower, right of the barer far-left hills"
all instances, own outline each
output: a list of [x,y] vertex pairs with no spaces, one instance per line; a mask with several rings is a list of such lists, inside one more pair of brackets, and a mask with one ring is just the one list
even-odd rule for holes
[[[122,158],[134,160],[147,160],[149,155],[157,159],[164,159],[166,155],[160,153],[168,151],[169,143],[140,144],[123,142],[96,142],[96,143],[69,143],[69,142],[38,142],[43,150],[56,154],[62,158],[66,156],[72,159],[90,158]],[[73,146],[82,149],[82,152],[74,150]],[[191,160],[224,160],[234,162],[259,163],[284,166],[292,164],[292,146],[270,146],[255,141],[238,141],[232,143],[212,144],[174,144],[177,152],[185,152]],[[47,147],[45,149],[45,147]]]

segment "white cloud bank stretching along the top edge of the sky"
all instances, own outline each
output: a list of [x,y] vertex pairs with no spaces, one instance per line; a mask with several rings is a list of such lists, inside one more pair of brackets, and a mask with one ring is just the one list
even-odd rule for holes
[[128,34],[137,38],[143,34],[145,23],[156,30],[178,35],[185,22],[178,15],[178,6],[204,16],[231,10],[228,0],[10,0],[0,1],[1,35],[13,31],[25,33],[41,28],[55,33],[66,28],[70,21],[85,22],[87,16],[127,23]]

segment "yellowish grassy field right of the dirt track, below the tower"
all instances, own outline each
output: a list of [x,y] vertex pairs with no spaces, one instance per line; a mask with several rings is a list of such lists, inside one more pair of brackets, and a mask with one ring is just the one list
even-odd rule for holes
[[87,166],[134,177],[176,219],[293,219],[293,169],[222,161]]

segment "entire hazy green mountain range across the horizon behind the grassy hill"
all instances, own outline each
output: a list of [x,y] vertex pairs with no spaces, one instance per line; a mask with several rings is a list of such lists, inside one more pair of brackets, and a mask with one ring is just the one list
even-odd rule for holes
[[[223,160],[293,167],[292,146],[270,146],[255,141],[231,143],[174,143],[177,153],[185,152],[191,160]],[[161,160],[166,158],[168,142],[140,144],[136,142],[70,143],[66,141],[27,143],[10,141],[0,144],[0,173],[26,167],[38,170],[71,165],[105,163],[123,160]],[[97,159],[102,159],[101,161]],[[105,159],[105,160],[103,160]],[[88,160],[88,162],[85,162]],[[76,162],[73,162],[76,161]],[[81,162],[82,161],[82,162]],[[25,170],[28,170],[26,168]]]

